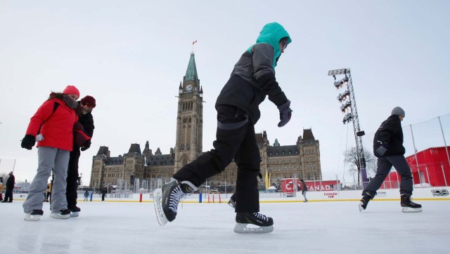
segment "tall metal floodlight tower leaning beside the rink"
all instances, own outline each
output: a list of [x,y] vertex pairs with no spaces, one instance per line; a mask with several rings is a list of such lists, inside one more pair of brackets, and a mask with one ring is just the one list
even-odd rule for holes
[[[336,75],[344,74],[345,77],[336,81]],[[328,71],[328,76],[333,76],[335,79],[335,88],[339,89],[342,86],[347,86],[344,93],[338,95],[338,101],[342,102],[340,110],[345,114],[342,123],[353,122],[354,138],[356,140],[356,154],[359,161],[359,169],[361,171],[362,182],[368,182],[367,172],[366,172],[366,158],[364,158],[363,141],[361,137],[365,134],[364,131],[359,129],[359,119],[358,110],[356,109],[356,100],[354,98],[352,74],[350,74],[350,69],[333,69]],[[359,178],[358,178],[359,180]]]

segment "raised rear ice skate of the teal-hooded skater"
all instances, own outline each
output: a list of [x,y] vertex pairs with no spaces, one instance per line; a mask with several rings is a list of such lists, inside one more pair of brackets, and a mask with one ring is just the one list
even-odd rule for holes
[[162,226],[176,218],[178,203],[186,195],[197,190],[191,182],[172,180],[162,185],[162,189],[153,191],[153,203],[155,204],[156,218]]

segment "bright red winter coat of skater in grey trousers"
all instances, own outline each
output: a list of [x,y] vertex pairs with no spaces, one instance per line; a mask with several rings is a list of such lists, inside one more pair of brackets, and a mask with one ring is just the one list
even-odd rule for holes
[[[53,112],[55,102],[59,106]],[[46,100],[32,116],[27,135],[36,136],[42,124],[40,133],[44,136],[44,140],[37,142],[37,147],[55,147],[71,152],[73,125],[77,121],[75,109],[68,107],[63,100],[53,98]]]

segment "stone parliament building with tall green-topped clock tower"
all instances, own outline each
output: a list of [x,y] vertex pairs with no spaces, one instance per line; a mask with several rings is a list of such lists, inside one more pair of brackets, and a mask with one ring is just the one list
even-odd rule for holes
[[[136,182],[139,188],[146,182],[145,188],[151,191],[168,182],[179,168],[198,158],[203,153],[203,87],[193,53],[186,75],[179,84],[178,98],[174,148],[168,154],[162,154],[158,147],[153,153],[147,141],[143,150],[139,144],[131,144],[127,153],[113,157],[108,147],[100,147],[93,156],[89,187],[120,185],[132,189],[136,188]],[[262,159],[261,173],[268,175],[271,185],[283,178],[321,180],[319,140],[314,138],[310,128],[303,129],[295,145],[280,145],[276,139],[270,145],[266,131],[256,133],[256,140]],[[236,185],[236,173],[236,163],[232,162],[224,172],[209,178],[207,185],[229,186],[232,190]],[[149,185],[150,182],[153,184]]]

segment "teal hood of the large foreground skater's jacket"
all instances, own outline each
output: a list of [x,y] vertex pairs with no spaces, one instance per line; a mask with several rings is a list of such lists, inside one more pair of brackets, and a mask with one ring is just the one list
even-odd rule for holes
[[[284,29],[282,25],[280,25],[277,22],[271,22],[262,27],[262,30],[261,32],[259,32],[259,36],[256,39],[256,44],[270,44],[272,47],[274,47],[275,52],[274,52],[273,67],[276,66],[276,59],[279,58],[281,55],[279,43],[283,37],[288,37],[288,44],[292,42],[292,39],[290,39],[288,32]],[[248,52],[251,51],[254,45],[248,48]]]

